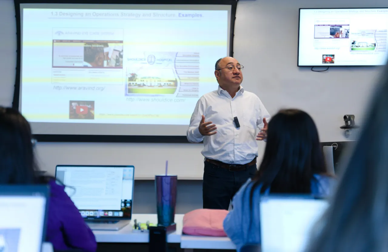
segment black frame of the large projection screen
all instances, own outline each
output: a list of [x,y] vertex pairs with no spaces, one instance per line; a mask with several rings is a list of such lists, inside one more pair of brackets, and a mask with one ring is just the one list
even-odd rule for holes
[[[234,24],[238,0],[14,0],[16,18],[16,78],[12,108],[20,111],[21,76],[21,14],[20,4],[24,3],[77,3],[77,4],[180,4],[180,5],[230,5],[229,56],[233,57]],[[187,125],[188,127],[188,125]],[[101,142],[101,143],[189,143],[186,136],[160,135],[61,135],[34,134],[38,142]],[[202,143],[202,142],[201,142]]]

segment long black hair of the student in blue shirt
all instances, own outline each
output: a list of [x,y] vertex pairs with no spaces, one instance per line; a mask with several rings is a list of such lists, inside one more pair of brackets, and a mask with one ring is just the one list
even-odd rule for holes
[[298,109],[280,110],[268,123],[267,145],[253,177],[250,205],[255,189],[262,185],[271,193],[311,193],[314,174],[326,174],[322,147],[313,119]]

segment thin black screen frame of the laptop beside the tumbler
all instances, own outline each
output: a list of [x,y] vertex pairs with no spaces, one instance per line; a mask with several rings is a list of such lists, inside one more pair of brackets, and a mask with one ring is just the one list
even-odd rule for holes
[[[133,209],[133,190],[135,189],[135,166],[98,166],[98,165],[68,165],[68,164],[59,164],[57,166],[55,166],[55,180],[57,180],[57,168],[58,167],[116,167],[116,168],[132,168],[133,169],[133,183],[132,183],[132,205],[131,205],[131,212],[130,212],[130,216],[129,217],[124,217],[124,216],[119,216],[119,217],[115,217],[115,216],[111,216],[111,217],[105,217],[105,216],[96,216],[96,217],[82,217],[84,220],[101,220],[101,221],[107,221],[107,220],[111,220],[111,221],[121,221],[121,220],[131,220],[132,219],[132,209]],[[58,180],[60,181],[60,180]],[[60,181],[62,184],[63,182]],[[66,186],[66,185],[64,185]],[[78,208],[77,208],[78,209]],[[94,210],[94,209],[93,209]],[[106,209],[107,211],[109,211],[109,209]],[[87,211],[85,209],[78,209],[78,211]],[[105,210],[104,210],[105,211]],[[111,210],[111,211],[116,211],[116,210]]]

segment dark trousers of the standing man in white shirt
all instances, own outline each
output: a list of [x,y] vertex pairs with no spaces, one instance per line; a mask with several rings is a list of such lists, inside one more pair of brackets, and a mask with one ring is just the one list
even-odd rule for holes
[[242,171],[229,171],[205,161],[202,185],[203,208],[228,210],[230,200],[256,172],[256,164]]

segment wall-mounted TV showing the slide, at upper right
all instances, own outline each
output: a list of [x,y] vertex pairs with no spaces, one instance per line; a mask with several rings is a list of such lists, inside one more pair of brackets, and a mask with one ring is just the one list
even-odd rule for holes
[[300,9],[298,66],[379,66],[387,61],[388,8]]

